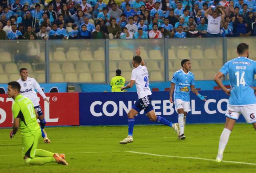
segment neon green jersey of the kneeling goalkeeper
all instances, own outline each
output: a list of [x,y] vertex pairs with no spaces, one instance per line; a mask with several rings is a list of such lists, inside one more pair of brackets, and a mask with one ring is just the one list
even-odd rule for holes
[[22,136],[41,134],[41,129],[36,121],[36,113],[31,100],[25,96],[16,96],[12,104],[13,118],[20,118]]

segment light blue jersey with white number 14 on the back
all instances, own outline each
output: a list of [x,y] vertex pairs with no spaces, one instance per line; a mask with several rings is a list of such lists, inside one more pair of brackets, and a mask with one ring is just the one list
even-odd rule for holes
[[228,99],[229,105],[248,106],[256,104],[254,90],[254,74],[256,74],[256,61],[246,57],[238,57],[228,61],[220,72],[229,74],[232,88]]

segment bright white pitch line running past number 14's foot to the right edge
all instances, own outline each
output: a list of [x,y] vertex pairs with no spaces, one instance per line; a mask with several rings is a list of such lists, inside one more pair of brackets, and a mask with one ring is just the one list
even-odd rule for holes
[[[206,159],[206,158],[200,158],[200,157],[182,157],[182,156],[174,156],[174,155],[161,155],[161,154],[152,154],[152,153],[141,153],[136,151],[126,151],[128,153],[136,153],[136,154],[144,154],[144,155],[154,155],[154,156],[160,156],[160,157],[173,157],[173,158],[182,158],[182,159],[198,159],[198,160],[207,160],[207,161],[215,161],[214,159]],[[244,165],[256,165],[256,163],[247,163],[247,162],[240,162],[240,161],[223,161],[226,163],[238,163],[238,164],[244,164]]]

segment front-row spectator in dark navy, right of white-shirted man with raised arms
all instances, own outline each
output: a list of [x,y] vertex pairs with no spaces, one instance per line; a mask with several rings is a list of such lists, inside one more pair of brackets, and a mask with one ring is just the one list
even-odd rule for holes
[[248,24],[244,23],[244,16],[238,15],[234,22],[234,35],[240,37],[250,36],[251,32],[247,31]]

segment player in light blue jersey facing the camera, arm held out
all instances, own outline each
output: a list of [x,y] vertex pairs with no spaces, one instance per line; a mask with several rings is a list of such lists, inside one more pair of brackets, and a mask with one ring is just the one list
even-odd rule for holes
[[175,110],[178,113],[178,123],[180,128],[180,135],[178,138],[180,140],[186,139],[184,135],[184,127],[186,124],[186,116],[190,111],[190,97],[189,91],[191,90],[196,94],[201,100],[206,101],[206,96],[201,96],[194,84],[194,74],[190,72],[191,63],[188,59],[183,59],[181,61],[182,69],[176,71],[173,74],[171,86],[170,86],[170,102],[173,103],[172,93],[174,92],[174,105]]

